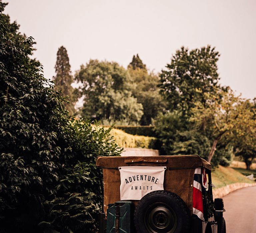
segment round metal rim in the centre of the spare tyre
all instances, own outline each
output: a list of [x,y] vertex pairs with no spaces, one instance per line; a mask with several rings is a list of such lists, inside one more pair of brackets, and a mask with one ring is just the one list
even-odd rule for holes
[[177,216],[166,203],[154,203],[145,213],[145,226],[150,233],[173,233],[177,227]]

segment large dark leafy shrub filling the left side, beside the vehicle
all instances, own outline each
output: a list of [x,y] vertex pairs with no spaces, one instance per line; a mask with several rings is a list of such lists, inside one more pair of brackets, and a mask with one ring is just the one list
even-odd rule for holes
[[[0,1],[0,232],[92,232],[109,131],[69,118]],[[39,224],[40,223],[40,224]]]

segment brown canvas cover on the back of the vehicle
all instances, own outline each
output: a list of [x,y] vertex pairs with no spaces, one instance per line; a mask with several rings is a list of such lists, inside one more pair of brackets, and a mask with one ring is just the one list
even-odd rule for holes
[[[194,172],[204,166],[211,170],[211,164],[198,155],[98,157],[96,165],[103,168],[104,212],[107,205],[120,200],[120,172],[122,166],[166,166],[164,190],[179,195],[192,214]],[[136,205],[138,201],[133,201]]]

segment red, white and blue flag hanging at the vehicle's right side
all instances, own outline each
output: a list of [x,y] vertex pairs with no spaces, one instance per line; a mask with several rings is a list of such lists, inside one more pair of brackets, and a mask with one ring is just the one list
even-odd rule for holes
[[193,182],[193,214],[204,221],[202,185],[207,188],[207,177],[204,168],[196,168]]

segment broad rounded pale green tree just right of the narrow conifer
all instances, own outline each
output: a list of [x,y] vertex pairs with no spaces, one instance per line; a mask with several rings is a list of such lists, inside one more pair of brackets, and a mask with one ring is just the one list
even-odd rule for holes
[[142,104],[132,95],[130,75],[115,62],[90,60],[75,75],[84,98],[81,116],[102,122],[137,124]]

